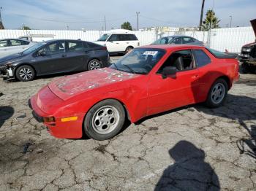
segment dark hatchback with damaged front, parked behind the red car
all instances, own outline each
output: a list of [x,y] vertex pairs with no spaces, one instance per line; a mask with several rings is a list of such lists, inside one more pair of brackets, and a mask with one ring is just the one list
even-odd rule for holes
[[110,65],[106,47],[80,40],[39,42],[0,59],[2,77],[26,82],[36,76],[99,69]]

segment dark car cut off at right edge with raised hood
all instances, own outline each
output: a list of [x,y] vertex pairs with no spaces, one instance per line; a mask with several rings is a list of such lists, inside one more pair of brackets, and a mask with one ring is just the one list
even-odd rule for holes
[[[256,19],[251,20],[251,23],[256,36]],[[256,70],[256,39],[255,42],[245,44],[242,47],[239,61],[242,63],[241,69],[244,73],[249,73]]]

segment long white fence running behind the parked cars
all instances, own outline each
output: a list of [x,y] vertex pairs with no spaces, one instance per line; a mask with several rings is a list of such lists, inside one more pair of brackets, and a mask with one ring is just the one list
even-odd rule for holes
[[241,46],[249,42],[255,41],[255,34],[252,27],[239,28],[217,28],[211,31],[211,42],[208,42],[208,32],[203,31],[184,31],[184,32],[169,32],[157,33],[154,31],[126,31],[126,30],[112,30],[112,31],[55,31],[55,30],[0,30],[0,39],[17,38],[19,36],[33,35],[37,41],[43,39],[81,39],[85,41],[96,41],[102,34],[111,32],[127,32],[135,34],[140,40],[140,45],[147,45],[154,42],[160,36],[171,36],[174,34],[183,34],[193,36],[196,39],[210,44],[211,48],[219,51],[240,52]]

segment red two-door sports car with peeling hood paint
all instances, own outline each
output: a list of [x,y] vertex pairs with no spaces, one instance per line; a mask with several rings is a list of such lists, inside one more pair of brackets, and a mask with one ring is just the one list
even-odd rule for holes
[[110,139],[125,119],[205,102],[217,107],[239,77],[235,55],[192,45],[138,47],[105,69],[62,77],[29,105],[57,138]]

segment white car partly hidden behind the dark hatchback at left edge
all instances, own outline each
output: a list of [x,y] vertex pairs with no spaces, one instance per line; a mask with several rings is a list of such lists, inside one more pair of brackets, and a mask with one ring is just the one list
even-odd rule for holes
[[33,46],[37,42],[29,42],[23,39],[1,39],[0,40],[0,58],[23,52],[27,48]]

